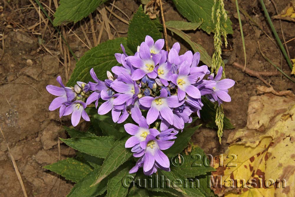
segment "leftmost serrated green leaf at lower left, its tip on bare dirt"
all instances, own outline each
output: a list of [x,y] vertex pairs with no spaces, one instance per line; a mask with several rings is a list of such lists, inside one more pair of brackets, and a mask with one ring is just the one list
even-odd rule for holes
[[74,158],[60,160],[54,164],[44,166],[44,168],[62,175],[65,179],[71,180],[75,183],[92,171],[88,164]]

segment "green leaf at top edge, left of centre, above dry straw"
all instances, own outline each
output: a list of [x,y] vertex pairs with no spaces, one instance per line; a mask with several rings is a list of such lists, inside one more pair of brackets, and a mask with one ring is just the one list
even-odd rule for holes
[[87,17],[98,6],[107,0],[60,0],[54,14],[53,25],[66,25],[69,22],[78,22]]

